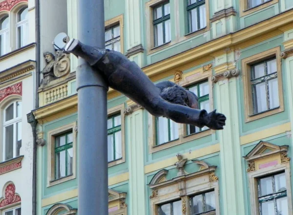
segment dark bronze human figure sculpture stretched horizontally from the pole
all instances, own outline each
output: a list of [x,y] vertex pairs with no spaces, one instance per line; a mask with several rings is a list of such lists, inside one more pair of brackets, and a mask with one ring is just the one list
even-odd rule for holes
[[71,39],[64,53],[82,57],[102,73],[108,85],[145,108],[150,114],[164,116],[176,123],[203,128],[223,129],[226,117],[216,110],[198,109],[198,98],[191,91],[172,82],[154,84],[134,62],[122,53],[85,45]]

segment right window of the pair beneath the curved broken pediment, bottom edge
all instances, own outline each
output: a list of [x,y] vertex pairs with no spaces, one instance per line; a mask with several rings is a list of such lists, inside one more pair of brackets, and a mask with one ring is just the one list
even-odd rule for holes
[[[191,215],[216,214],[215,192],[207,192],[189,197]],[[212,213],[214,212],[214,213]]]

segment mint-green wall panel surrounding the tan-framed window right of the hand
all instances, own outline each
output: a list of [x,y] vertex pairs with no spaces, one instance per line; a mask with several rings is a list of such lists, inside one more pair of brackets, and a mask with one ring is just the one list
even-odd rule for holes
[[[237,67],[240,69],[240,71],[242,71],[241,68],[241,60],[244,58],[247,58],[251,55],[255,55],[261,52],[264,52],[266,50],[272,49],[274,47],[281,47],[281,50],[284,50],[284,47],[282,45],[283,42],[283,36],[279,35],[276,36],[270,40],[266,40],[262,43],[247,47],[245,49],[241,50],[241,55],[240,55],[240,59],[237,62]],[[265,128],[269,128],[269,127],[273,127],[279,124],[283,124],[284,122],[288,122],[289,121],[289,112],[288,112],[288,103],[287,103],[287,97],[291,96],[288,95],[288,92],[285,90],[286,89],[286,68],[285,68],[285,61],[282,60],[282,84],[283,84],[283,98],[284,98],[284,111],[281,113],[277,113],[277,114],[273,114],[271,116],[262,118],[262,119],[258,119],[258,120],[254,120],[252,122],[249,123],[245,123],[244,121],[244,114],[245,114],[245,110],[244,110],[244,94],[243,94],[243,81],[242,81],[242,74],[240,74],[239,79],[238,79],[238,83],[239,83],[239,92],[240,92],[240,96],[238,97],[238,104],[239,107],[241,107],[241,125],[240,125],[240,135],[244,135],[244,134],[248,134],[251,132],[255,132],[261,129],[265,129]]]

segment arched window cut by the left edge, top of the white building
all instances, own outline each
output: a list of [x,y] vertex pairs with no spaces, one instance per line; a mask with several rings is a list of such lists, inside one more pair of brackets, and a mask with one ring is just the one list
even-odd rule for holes
[[0,19],[0,56],[9,51],[9,17]]

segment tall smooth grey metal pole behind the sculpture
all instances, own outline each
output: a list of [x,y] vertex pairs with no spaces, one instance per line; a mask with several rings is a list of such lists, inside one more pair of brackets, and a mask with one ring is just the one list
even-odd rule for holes
[[[78,0],[78,40],[105,48],[104,0]],[[79,58],[78,214],[108,214],[107,90],[102,76]]]

